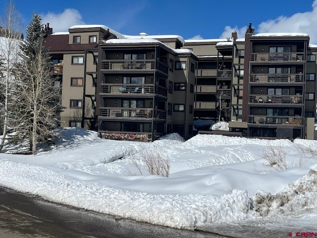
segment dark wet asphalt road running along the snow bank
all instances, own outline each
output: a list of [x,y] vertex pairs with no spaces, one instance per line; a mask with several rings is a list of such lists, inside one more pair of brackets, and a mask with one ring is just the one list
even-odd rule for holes
[[219,238],[47,202],[0,187],[1,238]]

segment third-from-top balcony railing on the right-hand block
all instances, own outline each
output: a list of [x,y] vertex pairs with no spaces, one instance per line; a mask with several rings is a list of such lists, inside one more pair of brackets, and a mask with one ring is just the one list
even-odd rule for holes
[[302,104],[302,95],[252,95],[249,103]]

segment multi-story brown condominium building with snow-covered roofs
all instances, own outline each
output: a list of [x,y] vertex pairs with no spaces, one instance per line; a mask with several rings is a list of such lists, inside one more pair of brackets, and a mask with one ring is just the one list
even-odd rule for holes
[[317,47],[307,34],[254,33],[250,24],[243,39],[126,36],[103,25],[49,34],[61,125],[153,141],[220,120],[231,134],[313,139]]

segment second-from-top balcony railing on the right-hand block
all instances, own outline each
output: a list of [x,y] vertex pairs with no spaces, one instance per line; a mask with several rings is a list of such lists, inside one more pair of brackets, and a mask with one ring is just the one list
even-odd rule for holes
[[249,81],[255,82],[255,83],[303,82],[304,81],[304,74],[303,73],[261,73],[261,74],[250,73]]

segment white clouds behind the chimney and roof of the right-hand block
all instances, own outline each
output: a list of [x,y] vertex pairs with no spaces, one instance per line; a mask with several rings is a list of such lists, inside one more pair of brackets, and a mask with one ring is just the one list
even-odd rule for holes
[[[269,19],[256,27],[256,33],[278,33],[278,32],[296,32],[307,33],[310,36],[310,43],[317,44],[317,0],[312,4],[312,10],[295,13],[290,17],[279,16],[275,19]],[[231,28],[226,26],[220,38],[231,38],[231,32],[237,31],[238,38],[244,38],[247,26]]]

